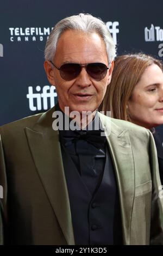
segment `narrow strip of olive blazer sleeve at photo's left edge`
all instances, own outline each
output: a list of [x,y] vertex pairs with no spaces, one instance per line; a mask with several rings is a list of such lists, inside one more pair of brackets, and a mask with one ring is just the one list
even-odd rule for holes
[[0,136],[0,245],[4,245],[4,233],[7,227],[7,176],[5,172],[5,161],[3,154],[2,141]]

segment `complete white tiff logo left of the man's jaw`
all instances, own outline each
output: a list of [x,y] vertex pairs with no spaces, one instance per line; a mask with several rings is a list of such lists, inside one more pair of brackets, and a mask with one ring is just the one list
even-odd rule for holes
[[[57,97],[57,93],[55,91],[54,86],[43,86],[42,93],[41,87],[36,87],[37,93],[33,92],[33,87],[28,87],[27,99],[29,99],[29,108],[31,111],[36,110],[47,110],[48,109],[48,99],[50,101],[50,108],[55,105],[55,97]],[[57,99],[56,99],[57,100]]]

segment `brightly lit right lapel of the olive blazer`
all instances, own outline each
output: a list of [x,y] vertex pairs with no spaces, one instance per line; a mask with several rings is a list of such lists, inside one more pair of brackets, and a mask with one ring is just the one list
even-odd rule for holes
[[[100,118],[106,129],[108,127],[108,119],[106,123],[104,115],[100,115]],[[122,130],[111,121],[111,132],[109,136],[106,136],[106,139],[115,167],[120,196],[123,242],[125,245],[129,245],[135,195],[135,169],[130,137],[127,130]]]

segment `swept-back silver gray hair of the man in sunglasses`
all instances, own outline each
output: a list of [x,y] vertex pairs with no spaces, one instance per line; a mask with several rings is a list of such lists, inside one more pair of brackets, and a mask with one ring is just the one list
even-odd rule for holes
[[116,57],[116,46],[105,23],[90,14],[80,13],[59,21],[53,28],[45,46],[45,59],[52,60],[57,48],[57,42],[61,34],[68,29],[83,31],[85,33],[96,32],[101,36],[106,45],[108,61],[112,62]]

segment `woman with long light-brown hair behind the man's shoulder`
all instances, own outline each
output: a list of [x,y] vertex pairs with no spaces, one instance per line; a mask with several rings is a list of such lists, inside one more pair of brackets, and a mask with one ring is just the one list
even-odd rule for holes
[[150,129],[158,151],[163,184],[163,148],[154,127],[163,124],[163,72],[160,60],[138,53],[115,60],[111,82],[99,110]]

